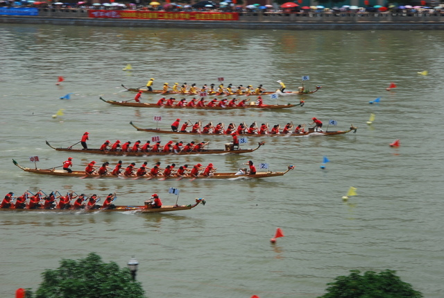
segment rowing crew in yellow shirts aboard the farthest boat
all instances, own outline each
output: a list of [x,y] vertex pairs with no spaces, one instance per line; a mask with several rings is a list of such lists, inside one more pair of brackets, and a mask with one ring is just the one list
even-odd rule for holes
[[[153,83],[154,78],[150,78],[150,80],[146,83],[146,88],[148,88],[148,91],[153,91]],[[188,94],[188,95],[194,95],[199,94],[201,92],[205,92],[207,95],[260,95],[262,92],[265,91],[265,88],[263,88],[263,85],[260,84],[256,88],[253,88],[253,85],[247,85],[244,87],[244,85],[239,85],[237,87],[234,87],[232,84],[228,84],[226,87],[223,85],[223,83],[220,83],[217,87],[215,84],[211,84],[208,86],[207,84],[204,84],[202,88],[198,88],[196,86],[196,83],[193,83],[191,85],[187,85],[187,83],[183,83],[182,85],[179,85],[179,83],[174,83],[173,87],[169,85],[169,83],[164,83],[162,88],[162,93],[167,94],[171,91],[178,93],[178,94]],[[284,88],[281,88],[280,90],[284,92]]]

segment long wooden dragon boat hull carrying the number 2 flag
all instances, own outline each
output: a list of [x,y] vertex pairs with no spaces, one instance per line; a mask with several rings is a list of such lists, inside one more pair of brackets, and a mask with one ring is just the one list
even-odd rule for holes
[[65,176],[65,177],[80,177],[80,178],[114,178],[114,179],[143,179],[143,180],[151,180],[151,179],[232,179],[232,178],[267,178],[267,177],[274,177],[274,176],[283,176],[287,172],[289,172],[290,169],[294,169],[294,166],[289,165],[287,170],[285,172],[256,172],[256,174],[247,174],[246,171],[236,173],[212,173],[210,176],[162,176],[162,174],[152,177],[148,174],[144,176],[114,176],[111,174],[86,174],[85,171],[72,171],[71,173],[63,170],[63,169],[56,169],[55,167],[51,169],[31,169],[29,167],[22,167],[12,159],[12,163],[14,165],[17,165],[20,169],[23,169],[25,172],[30,172],[34,174],[46,174],[46,175],[53,175],[53,176]]

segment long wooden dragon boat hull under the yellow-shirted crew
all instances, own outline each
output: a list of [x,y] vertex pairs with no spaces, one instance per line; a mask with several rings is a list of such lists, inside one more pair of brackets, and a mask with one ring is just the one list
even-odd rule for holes
[[[185,93],[183,93],[183,92],[176,92],[176,91],[170,91],[170,90],[167,91],[167,92],[164,92],[164,90],[148,91],[148,89],[142,89],[142,88],[127,88],[123,84],[121,84],[121,86],[123,88],[125,88],[127,91],[142,92],[142,93],[147,93],[147,94],[165,94],[165,95],[168,95],[168,94],[181,94],[181,95],[193,95],[193,96],[198,96],[199,95],[198,92],[197,93],[190,93],[190,92],[186,91]],[[284,91],[284,92],[280,92],[280,90],[278,89],[276,91],[263,91],[263,92],[260,92],[260,94],[255,94],[254,92],[250,93],[250,94],[245,94],[245,93],[244,94],[237,94],[237,93],[234,93],[234,92],[231,92],[230,94],[228,94],[228,93],[225,93],[225,92],[223,92],[223,93],[217,93],[216,92],[214,94],[208,94],[208,96],[210,96],[210,97],[219,97],[219,96],[225,96],[226,97],[226,96],[242,96],[242,95],[244,95],[244,96],[259,96],[259,95],[270,95],[270,94],[306,95],[306,94],[313,94],[314,92],[317,92],[321,88],[322,88],[322,86],[316,86],[316,88],[314,90],[308,90],[308,89],[305,89],[305,88],[299,88],[298,91]]]

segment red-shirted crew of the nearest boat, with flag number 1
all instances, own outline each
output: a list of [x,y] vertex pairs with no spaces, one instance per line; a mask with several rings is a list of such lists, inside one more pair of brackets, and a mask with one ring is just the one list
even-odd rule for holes
[[[35,194],[26,190],[19,197],[14,197],[13,192],[9,192],[1,201],[0,208],[15,209],[59,209],[59,210],[92,210],[92,209],[114,209],[113,204],[117,199],[116,194],[108,194],[102,205],[97,204],[101,198],[97,194],[87,197],[85,194],[77,194],[76,192],[67,192],[64,196],[58,190],[45,194],[39,190]],[[74,200],[74,202],[72,202]],[[15,201],[15,202],[14,202]],[[153,194],[150,199],[145,201],[144,208],[160,208],[162,201],[157,194]]]

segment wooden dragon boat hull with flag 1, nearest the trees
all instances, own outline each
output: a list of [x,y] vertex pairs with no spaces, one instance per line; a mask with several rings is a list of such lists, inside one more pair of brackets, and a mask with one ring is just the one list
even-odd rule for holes
[[35,208],[35,209],[29,209],[28,206],[26,206],[25,208],[15,208],[15,207],[10,207],[10,208],[0,208],[0,211],[17,211],[17,212],[52,212],[52,213],[109,213],[109,212],[133,212],[133,213],[164,213],[164,212],[172,212],[172,211],[180,211],[180,210],[189,210],[192,209],[196,206],[198,206],[198,204],[202,204],[205,205],[205,199],[196,198],[196,202],[194,204],[189,204],[189,205],[174,205],[174,206],[167,206],[167,205],[162,205],[160,208],[147,208],[146,206],[115,206],[115,208],[112,209],[103,209],[103,208],[99,208],[99,209],[58,209],[58,208],[53,208],[53,209],[45,209],[45,208]]

